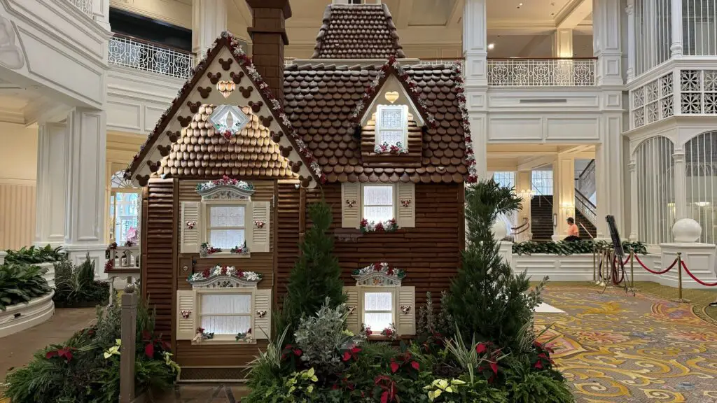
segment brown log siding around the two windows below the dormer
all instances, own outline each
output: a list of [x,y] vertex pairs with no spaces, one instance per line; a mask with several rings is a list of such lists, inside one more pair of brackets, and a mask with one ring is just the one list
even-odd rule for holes
[[[425,302],[430,291],[434,303],[450,287],[460,266],[462,246],[461,184],[416,184],[416,227],[393,233],[364,234],[358,242],[335,240],[334,251],[341,264],[346,285],[354,285],[354,269],[374,262],[388,262],[406,270],[404,285],[416,287],[416,301]],[[323,187],[326,201],[333,207],[333,227],[341,225],[341,185]],[[320,199],[319,191],[307,192],[308,203]],[[459,224],[460,223],[460,224]],[[307,217],[307,227],[310,220]]]

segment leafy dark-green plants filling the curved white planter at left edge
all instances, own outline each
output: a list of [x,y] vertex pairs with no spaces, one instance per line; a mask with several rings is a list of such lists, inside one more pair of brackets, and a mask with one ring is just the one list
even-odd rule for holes
[[52,291],[42,277],[46,272],[47,269],[19,263],[0,265],[0,310]]

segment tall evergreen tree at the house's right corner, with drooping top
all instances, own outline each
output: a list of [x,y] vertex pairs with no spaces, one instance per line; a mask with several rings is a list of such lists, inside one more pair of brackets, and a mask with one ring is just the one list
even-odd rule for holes
[[476,340],[517,349],[540,302],[539,289],[526,294],[528,276],[525,272],[513,274],[493,237],[495,219],[520,209],[521,201],[513,189],[501,187],[493,179],[466,190],[467,247],[446,303],[467,341],[475,335]]

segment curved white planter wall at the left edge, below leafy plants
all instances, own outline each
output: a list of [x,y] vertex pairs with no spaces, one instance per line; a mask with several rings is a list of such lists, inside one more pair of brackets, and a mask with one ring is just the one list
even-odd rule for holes
[[33,298],[28,303],[10,305],[6,310],[0,310],[0,338],[32,328],[52,318],[52,295],[54,290],[42,297]]

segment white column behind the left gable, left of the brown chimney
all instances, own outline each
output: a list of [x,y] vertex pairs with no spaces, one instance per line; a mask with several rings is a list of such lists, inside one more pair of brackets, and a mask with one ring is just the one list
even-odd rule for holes
[[227,0],[194,0],[191,11],[191,51],[201,60],[214,39],[227,30]]

